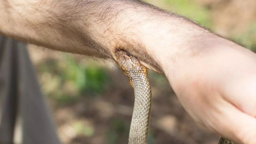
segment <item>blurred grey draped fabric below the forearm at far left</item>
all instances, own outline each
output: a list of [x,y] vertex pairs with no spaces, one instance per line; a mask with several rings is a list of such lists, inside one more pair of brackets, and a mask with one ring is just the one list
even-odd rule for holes
[[0,143],[12,144],[17,119],[22,144],[60,144],[26,44],[0,36]]

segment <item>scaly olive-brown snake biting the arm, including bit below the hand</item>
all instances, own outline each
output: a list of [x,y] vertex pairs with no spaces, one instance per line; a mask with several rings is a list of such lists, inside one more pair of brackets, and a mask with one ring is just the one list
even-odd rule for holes
[[[116,62],[128,77],[134,90],[134,106],[128,144],[148,144],[152,94],[147,68],[135,56],[121,49],[116,50]],[[218,144],[233,144],[233,142],[221,137]]]

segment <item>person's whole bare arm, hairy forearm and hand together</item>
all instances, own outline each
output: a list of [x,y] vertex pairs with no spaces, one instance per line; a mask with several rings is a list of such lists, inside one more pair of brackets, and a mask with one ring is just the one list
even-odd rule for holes
[[110,60],[121,48],[163,73],[197,123],[256,144],[256,55],[192,21],[135,0],[0,0],[0,33]]

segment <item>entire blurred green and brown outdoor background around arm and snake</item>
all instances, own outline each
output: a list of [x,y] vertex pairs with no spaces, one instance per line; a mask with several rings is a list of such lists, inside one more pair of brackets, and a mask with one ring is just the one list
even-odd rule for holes
[[[255,0],[147,0],[185,15],[256,51]],[[36,47],[36,48],[35,48]],[[133,90],[108,61],[29,45],[42,90],[63,144],[127,144]],[[197,125],[164,76],[149,71],[152,118],[149,144],[217,144]]]

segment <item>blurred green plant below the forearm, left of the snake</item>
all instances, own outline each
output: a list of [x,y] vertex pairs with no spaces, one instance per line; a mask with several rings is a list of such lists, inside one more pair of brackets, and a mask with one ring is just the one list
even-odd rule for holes
[[79,100],[83,95],[98,95],[110,82],[106,69],[89,63],[79,64],[69,54],[64,54],[64,61],[49,59],[39,68],[41,82],[46,95],[65,104]]

